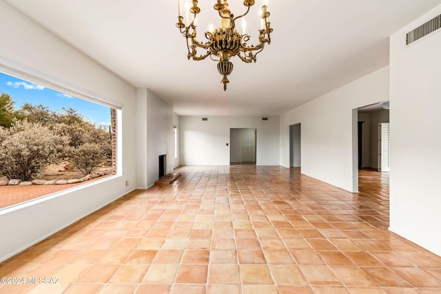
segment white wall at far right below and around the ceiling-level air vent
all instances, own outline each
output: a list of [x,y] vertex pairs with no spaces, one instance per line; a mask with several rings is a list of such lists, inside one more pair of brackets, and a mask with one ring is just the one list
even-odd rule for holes
[[390,39],[391,231],[441,255],[441,34],[409,47],[406,34],[441,14],[441,6]]

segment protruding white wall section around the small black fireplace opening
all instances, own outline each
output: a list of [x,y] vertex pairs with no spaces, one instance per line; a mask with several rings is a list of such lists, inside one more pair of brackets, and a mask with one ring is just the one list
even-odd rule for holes
[[159,156],[166,154],[173,170],[173,109],[147,88],[136,89],[136,187],[146,189],[158,180]]

